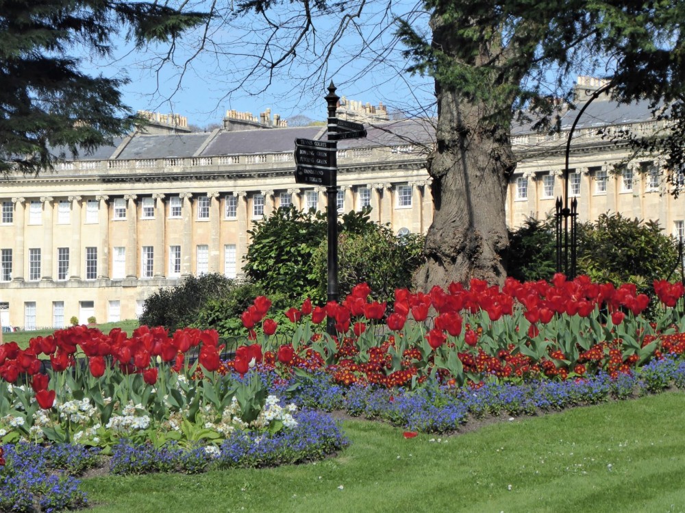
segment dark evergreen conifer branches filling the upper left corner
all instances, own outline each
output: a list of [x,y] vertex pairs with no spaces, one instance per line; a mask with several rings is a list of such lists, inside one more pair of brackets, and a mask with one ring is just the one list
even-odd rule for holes
[[55,148],[88,152],[140,123],[121,103],[126,81],[84,73],[75,47],[108,55],[121,34],[138,49],[173,45],[204,20],[156,1],[0,0],[0,175],[37,173],[64,156]]

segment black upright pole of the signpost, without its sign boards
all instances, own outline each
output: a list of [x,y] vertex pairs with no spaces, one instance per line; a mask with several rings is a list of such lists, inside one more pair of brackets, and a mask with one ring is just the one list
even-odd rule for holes
[[[328,103],[328,140],[333,140],[332,134],[338,132],[338,119],[336,118],[336,110],[338,109],[338,100],[340,97],[336,95],[336,86],[333,81],[328,86],[328,95],[324,97]],[[334,151],[337,151],[337,143],[334,143]],[[336,162],[337,167],[337,162]],[[328,195],[328,301],[338,301],[338,181],[337,168],[333,171],[332,184],[326,188]],[[327,334],[333,336],[336,334],[336,325],[334,318],[328,318],[326,324]]]

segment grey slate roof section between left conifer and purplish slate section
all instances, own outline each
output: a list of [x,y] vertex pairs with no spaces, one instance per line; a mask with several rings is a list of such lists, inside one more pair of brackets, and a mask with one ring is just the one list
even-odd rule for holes
[[136,134],[117,159],[192,157],[209,137],[209,132],[199,134]]

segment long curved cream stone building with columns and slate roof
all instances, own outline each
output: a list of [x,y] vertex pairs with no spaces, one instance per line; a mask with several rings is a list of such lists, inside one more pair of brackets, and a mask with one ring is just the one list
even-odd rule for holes
[[[601,85],[580,77],[578,90]],[[582,104],[582,103],[581,103]],[[553,214],[564,195],[566,140],[516,127],[519,165],[510,178],[511,227]],[[326,140],[325,126],[288,127],[267,110],[229,111],[223,127],[190,132],[179,115],[145,113],[150,124],[38,175],[0,181],[0,320],[3,326],[63,327],[134,318],[145,299],[186,275],[242,275],[248,230],[274,209],[325,210],[324,187],[297,184],[295,139]],[[366,138],[338,141],[338,212],[371,207],[398,234],[425,233],[433,216],[426,157],[434,121],[388,121],[383,105],[345,98],[338,117],[364,123]],[[647,105],[600,97],[573,131],[569,197],[580,221],[605,212],[658,220],[685,236],[684,199],[669,194],[658,158],[627,160],[612,130],[658,129]],[[600,132],[603,132],[600,133]]]

